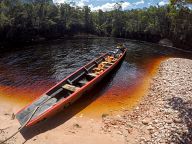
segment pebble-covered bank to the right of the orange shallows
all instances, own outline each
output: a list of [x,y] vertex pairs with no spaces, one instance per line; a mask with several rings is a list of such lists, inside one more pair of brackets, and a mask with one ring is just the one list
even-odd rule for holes
[[192,60],[161,63],[149,93],[133,110],[103,119],[106,133],[118,131],[126,143],[192,142]]

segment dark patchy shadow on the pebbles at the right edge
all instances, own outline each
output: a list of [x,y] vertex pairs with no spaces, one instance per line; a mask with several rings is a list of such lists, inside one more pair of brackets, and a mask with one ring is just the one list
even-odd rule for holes
[[187,132],[178,133],[172,132],[172,141],[176,144],[191,144],[192,143],[192,100],[184,101],[180,97],[173,97],[168,100],[169,105],[173,110],[179,112],[178,117],[181,119],[181,124],[187,127]]

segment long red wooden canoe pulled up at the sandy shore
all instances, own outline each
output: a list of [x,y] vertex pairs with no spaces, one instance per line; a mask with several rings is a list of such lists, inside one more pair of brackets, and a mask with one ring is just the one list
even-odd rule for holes
[[16,118],[22,126],[29,127],[63,110],[111,72],[126,51],[115,49],[81,67],[17,112]]

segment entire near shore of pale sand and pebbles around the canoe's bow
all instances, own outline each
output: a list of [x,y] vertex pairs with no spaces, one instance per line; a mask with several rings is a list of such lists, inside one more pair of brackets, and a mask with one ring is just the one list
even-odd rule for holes
[[[18,106],[0,103],[0,141],[17,131]],[[24,129],[9,144],[138,144],[192,142],[192,60],[163,61],[148,94],[133,109],[89,118],[64,112]]]

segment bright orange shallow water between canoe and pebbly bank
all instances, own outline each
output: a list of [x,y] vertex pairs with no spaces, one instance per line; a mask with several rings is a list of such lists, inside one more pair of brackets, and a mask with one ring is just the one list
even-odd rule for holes
[[103,113],[119,112],[119,110],[136,106],[147,94],[152,77],[156,74],[159,64],[165,59],[164,57],[152,60],[146,67],[146,73],[139,77],[134,85],[126,86],[119,83],[112,86],[79,114],[101,116]]

